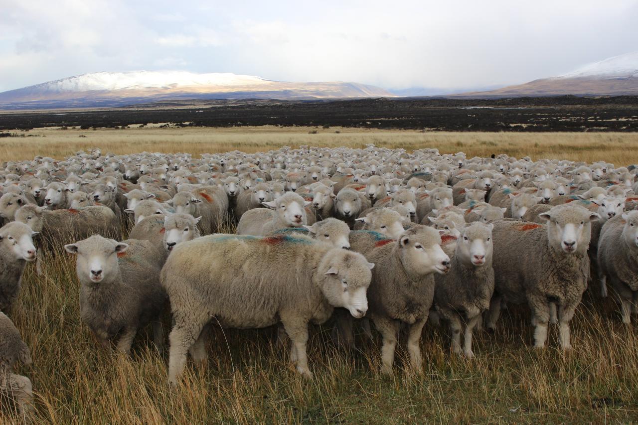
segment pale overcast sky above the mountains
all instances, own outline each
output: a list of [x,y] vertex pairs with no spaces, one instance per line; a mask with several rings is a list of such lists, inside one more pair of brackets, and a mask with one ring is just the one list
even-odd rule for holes
[[638,0],[0,0],[0,91],[96,71],[481,88],[638,50]]

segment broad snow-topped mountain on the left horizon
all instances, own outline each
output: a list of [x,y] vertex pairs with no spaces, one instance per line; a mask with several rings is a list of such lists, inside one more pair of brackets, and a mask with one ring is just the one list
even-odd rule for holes
[[233,73],[97,72],[0,93],[0,108],[117,107],[168,99],[327,99],[392,96],[352,82],[283,82]]

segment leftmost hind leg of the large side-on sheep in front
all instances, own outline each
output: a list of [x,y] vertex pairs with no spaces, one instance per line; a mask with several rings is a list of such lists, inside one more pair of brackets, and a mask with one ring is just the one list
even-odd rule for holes
[[175,325],[168,336],[170,351],[168,354],[168,383],[177,385],[177,378],[182,375],[186,365],[188,349],[195,343],[195,339],[201,334],[207,318],[202,320],[188,320],[185,317],[177,317],[173,313]]

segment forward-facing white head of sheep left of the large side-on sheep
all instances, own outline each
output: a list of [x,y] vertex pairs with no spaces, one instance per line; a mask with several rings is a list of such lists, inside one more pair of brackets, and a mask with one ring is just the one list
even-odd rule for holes
[[84,241],[64,245],[64,249],[77,255],[76,271],[80,281],[100,283],[119,274],[117,254],[128,250],[128,244],[93,235]]

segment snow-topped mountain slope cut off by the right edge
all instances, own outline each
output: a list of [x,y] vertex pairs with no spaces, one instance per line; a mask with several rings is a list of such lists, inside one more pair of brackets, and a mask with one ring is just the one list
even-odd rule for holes
[[462,93],[464,98],[517,96],[621,96],[638,95],[638,52],[609,57],[556,77],[541,78],[517,86]]

